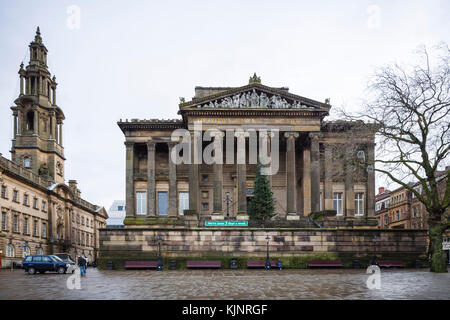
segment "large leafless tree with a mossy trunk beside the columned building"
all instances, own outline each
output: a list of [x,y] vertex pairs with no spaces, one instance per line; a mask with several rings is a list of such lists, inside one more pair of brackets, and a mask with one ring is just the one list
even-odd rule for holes
[[377,128],[375,170],[424,204],[429,215],[430,270],[447,272],[442,236],[450,228],[450,179],[447,172],[440,190],[437,172],[448,165],[450,154],[450,50],[442,43],[429,54],[421,46],[416,57],[417,63],[406,67],[378,69],[363,112],[346,117]]

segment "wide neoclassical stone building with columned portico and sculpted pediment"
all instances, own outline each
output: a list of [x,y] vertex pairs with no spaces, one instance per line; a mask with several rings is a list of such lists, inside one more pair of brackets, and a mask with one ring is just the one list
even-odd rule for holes
[[[118,122],[126,145],[128,227],[162,217],[246,219],[259,159],[254,151],[261,147],[279,163],[269,176],[277,219],[336,210],[338,219],[375,221],[374,134],[357,123],[324,121],[329,101],[265,86],[256,75],[242,87],[196,87],[191,101],[180,100],[181,119]],[[173,134],[182,129],[184,137]],[[205,139],[209,130],[218,133]],[[186,141],[192,143],[180,151]],[[196,162],[212,143],[223,150],[221,163]],[[172,153],[191,161],[176,164]]]

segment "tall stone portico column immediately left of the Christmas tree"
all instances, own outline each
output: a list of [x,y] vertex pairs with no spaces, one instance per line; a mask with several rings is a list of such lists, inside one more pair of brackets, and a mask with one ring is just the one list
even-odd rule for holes
[[248,133],[238,131],[237,137],[237,187],[238,187],[238,214],[247,214],[247,166],[245,164],[245,137]]

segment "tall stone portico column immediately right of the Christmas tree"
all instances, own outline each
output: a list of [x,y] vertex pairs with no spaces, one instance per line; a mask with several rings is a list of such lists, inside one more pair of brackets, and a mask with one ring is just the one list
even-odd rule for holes
[[296,215],[295,194],[296,194],[296,172],[295,172],[295,138],[299,137],[298,132],[285,132],[286,141],[286,196],[287,214]]

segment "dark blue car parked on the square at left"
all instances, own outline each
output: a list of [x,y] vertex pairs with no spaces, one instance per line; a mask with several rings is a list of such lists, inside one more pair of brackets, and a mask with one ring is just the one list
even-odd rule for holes
[[22,267],[28,274],[45,273],[47,271],[63,274],[71,268],[71,265],[54,255],[32,255],[23,259]]

